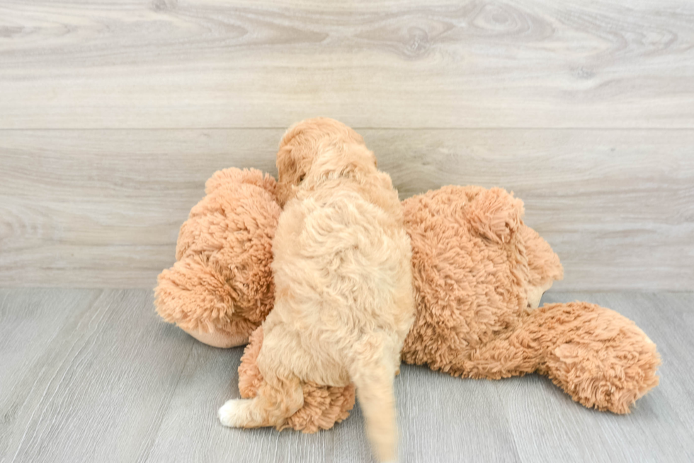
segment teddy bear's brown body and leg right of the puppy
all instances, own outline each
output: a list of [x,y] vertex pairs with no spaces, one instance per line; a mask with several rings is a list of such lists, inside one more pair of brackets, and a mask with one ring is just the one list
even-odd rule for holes
[[627,318],[587,303],[533,310],[562,266],[511,194],[444,187],[404,207],[417,300],[406,363],[495,380],[537,372],[615,413],[657,385],[656,347]]

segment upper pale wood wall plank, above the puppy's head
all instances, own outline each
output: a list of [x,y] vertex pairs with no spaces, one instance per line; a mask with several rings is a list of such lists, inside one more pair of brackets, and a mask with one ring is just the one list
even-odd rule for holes
[[689,0],[4,0],[0,128],[694,128]]

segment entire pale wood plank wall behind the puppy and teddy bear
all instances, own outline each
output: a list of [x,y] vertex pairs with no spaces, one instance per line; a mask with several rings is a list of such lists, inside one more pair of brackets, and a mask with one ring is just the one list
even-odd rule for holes
[[205,179],[316,115],[402,197],[515,191],[556,288],[694,289],[688,0],[0,0],[0,286],[154,286]]

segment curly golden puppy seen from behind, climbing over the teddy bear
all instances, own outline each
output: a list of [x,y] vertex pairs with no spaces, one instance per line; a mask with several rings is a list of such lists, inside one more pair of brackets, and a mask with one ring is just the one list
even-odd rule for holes
[[397,456],[393,380],[414,321],[411,245],[390,177],[361,137],[309,119],[283,137],[273,241],[275,308],[263,322],[253,399],[226,426],[290,426],[310,385],[353,383],[380,461]]

